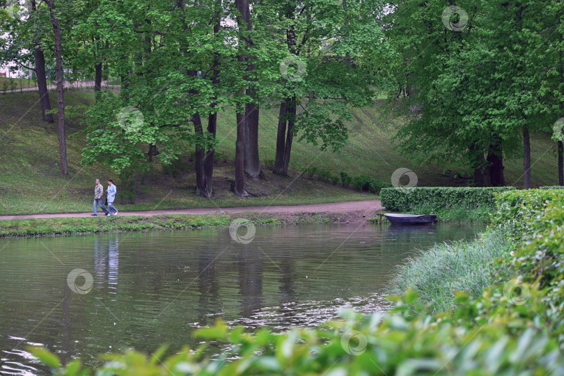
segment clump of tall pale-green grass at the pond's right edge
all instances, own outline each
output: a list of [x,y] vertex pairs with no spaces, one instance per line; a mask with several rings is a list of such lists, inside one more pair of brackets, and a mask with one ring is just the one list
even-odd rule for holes
[[487,231],[472,242],[436,244],[398,268],[390,292],[403,295],[411,288],[418,295],[417,308],[425,306],[430,313],[451,312],[455,292],[479,296],[494,282],[491,263],[509,256],[513,249],[515,246],[495,231]]

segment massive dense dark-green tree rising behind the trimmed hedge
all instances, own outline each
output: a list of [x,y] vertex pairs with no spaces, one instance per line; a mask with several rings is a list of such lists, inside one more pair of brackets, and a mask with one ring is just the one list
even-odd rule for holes
[[536,1],[395,3],[389,38],[402,54],[395,77],[407,98],[390,102],[410,117],[398,132],[402,148],[470,166],[476,185],[505,185],[503,158],[524,155],[530,187],[528,135],[552,111],[542,82],[555,16],[544,13]]

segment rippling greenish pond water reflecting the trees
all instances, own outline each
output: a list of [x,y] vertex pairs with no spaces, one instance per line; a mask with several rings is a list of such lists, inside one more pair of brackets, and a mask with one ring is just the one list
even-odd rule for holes
[[227,228],[0,240],[0,375],[47,374],[30,344],[95,366],[98,354],[128,347],[194,347],[191,333],[216,318],[285,330],[343,307],[385,311],[386,285],[415,249],[480,230],[258,227],[248,244]]

